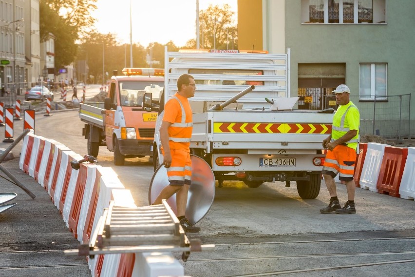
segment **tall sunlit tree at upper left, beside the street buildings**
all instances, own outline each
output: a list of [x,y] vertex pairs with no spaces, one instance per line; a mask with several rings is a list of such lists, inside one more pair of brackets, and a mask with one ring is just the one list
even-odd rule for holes
[[55,67],[62,68],[74,61],[79,39],[94,23],[90,13],[97,0],[40,0],[40,41],[55,36]]

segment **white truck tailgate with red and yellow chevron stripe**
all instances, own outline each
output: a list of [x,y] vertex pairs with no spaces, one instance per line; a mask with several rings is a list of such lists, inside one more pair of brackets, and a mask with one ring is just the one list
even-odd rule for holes
[[322,140],[331,134],[332,119],[333,114],[310,111],[193,114],[192,147],[200,148],[195,145],[207,142],[208,148],[245,149],[256,154],[272,149],[321,149]]

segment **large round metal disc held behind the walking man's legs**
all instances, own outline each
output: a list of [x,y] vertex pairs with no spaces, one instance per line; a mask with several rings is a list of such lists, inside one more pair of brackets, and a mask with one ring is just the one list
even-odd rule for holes
[[[204,218],[215,198],[215,175],[203,158],[190,155],[191,185],[186,205],[186,217],[191,224],[196,224]],[[154,172],[149,188],[149,204],[153,203],[164,187],[169,185],[167,169],[160,165]],[[177,216],[176,195],[167,202]]]

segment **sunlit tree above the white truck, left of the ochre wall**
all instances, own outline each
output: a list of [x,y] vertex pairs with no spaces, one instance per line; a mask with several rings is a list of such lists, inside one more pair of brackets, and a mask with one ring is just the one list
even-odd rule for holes
[[[200,46],[202,49],[237,49],[237,28],[233,25],[234,12],[230,6],[224,4],[209,5],[206,10],[201,10],[200,20]],[[193,46],[193,41],[186,43],[187,47]],[[194,48],[196,40],[194,40]]]

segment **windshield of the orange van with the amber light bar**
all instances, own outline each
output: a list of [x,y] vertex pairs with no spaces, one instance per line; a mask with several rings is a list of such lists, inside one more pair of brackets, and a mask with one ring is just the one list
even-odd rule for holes
[[152,99],[160,99],[163,87],[164,81],[120,81],[121,106],[141,106],[146,92],[151,92]]

